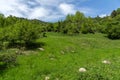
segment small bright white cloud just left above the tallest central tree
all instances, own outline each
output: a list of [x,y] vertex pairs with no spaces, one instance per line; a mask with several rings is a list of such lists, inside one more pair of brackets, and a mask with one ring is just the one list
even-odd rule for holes
[[59,8],[64,15],[75,13],[74,5],[72,4],[62,3],[59,5]]

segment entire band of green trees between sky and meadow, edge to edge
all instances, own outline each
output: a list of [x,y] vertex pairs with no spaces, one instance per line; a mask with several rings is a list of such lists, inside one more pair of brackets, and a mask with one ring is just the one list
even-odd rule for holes
[[[29,46],[45,32],[58,32],[67,35],[104,33],[110,39],[120,39],[120,8],[106,17],[86,17],[77,11],[68,14],[65,20],[50,23],[37,19],[30,20],[0,14],[0,48],[13,44]],[[43,35],[42,35],[43,34]]]

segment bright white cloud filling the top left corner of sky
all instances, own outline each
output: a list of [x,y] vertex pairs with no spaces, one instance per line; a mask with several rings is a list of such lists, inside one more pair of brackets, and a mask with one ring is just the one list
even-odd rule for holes
[[22,13],[26,13],[27,6],[19,3],[19,0],[1,0],[0,1],[0,13],[5,16],[14,15],[17,17],[24,17]]

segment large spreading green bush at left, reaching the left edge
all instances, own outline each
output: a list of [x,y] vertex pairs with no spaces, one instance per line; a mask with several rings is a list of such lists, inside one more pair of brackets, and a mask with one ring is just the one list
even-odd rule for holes
[[26,20],[17,22],[13,26],[1,28],[0,31],[1,49],[6,49],[8,45],[13,46],[16,43],[19,43],[19,46],[26,47],[40,38],[42,33],[38,25],[34,25]]

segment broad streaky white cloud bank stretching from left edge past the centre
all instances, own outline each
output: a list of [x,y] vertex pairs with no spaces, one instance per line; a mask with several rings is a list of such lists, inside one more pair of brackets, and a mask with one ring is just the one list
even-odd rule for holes
[[5,16],[14,15],[29,19],[54,21],[65,17],[67,14],[74,14],[76,10],[83,13],[90,12],[88,8],[78,9],[78,6],[72,2],[75,0],[0,0],[0,13]]

